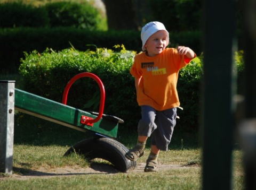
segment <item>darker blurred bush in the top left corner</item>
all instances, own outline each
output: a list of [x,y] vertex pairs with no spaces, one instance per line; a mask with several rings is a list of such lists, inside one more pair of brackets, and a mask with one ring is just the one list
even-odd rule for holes
[[44,7],[22,3],[0,3],[0,28],[47,27],[49,18]]

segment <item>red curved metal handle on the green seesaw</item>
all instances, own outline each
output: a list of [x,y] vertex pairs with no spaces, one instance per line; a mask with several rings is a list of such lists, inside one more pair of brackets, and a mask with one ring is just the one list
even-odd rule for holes
[[99,87],[100,87],[100,108],[99,108],[99,115],[97,118],[95,119],[86,119],[85,123],[96,123],[98,122],[102,115],[103,115],[103,109],[104,109],[104,103],[105,103],[105,89],[104,89],[104,85],[103,83],[101,82],[100,78],[95,75],[95,74],[92,74],[92,73],[80,73],[80,74],[77,74],[75,75],[67,84],[64,92],[63,92],[63,97],[62,97],[62,103],[67,105],[67,98],[68,98],[68,91],[71,87],[71,85],[78,79],[80,79],[81,77],[91,77],[92,79],[94,79],[98,84],[99,84]]

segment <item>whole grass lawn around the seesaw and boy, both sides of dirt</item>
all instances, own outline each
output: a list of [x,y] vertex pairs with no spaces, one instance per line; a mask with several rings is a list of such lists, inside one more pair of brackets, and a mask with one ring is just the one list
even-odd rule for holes
[[[119,127],[117,140],[131,148],[137,134]],[[91,162],[79,154],[63,157],[68,148],[90,134],[59,126],[25,114],[15,115],[13,173],[37,171],[39,168],[90,167]],[[46,178],[12,179],[0,174],[1,189],[201,189],[201,148],[198,135],[182,132],[177,127],[169,151],[159,154],[159,164],[175,165],[170,170],[150,172],[118,172],[116,174],[73,174]],[[145,153],[150,152],[148,141]],[[243,153],[234,151],[233,189],[243,189]],[[138,160],[145,162],[147,156]],[[106,163],[106,161],[97,161]],[[183,167],[186,165],[186,167]],[[54,172],[51,172],[54,174]],[[1,177],[2,176],[2,177]],[[2,180],[3,179],[3,180]]]

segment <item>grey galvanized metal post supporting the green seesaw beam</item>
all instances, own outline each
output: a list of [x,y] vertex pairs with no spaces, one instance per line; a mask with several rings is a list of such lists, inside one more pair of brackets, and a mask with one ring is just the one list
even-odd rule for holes
[[12,175],[15,81],[0,81],[0,172]]

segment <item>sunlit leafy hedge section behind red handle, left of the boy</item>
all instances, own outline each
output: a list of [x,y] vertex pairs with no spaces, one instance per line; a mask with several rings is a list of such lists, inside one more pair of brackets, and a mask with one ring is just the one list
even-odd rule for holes
[[[104,113],[122,118],[126,125],[131,125],[140,117],[134,79],[130,74],[135,53],[125,50],[124,46],[116,48],[121,51],[97,48],[82,52],[69,48],[58,53],[50,49],[42,54],[37,51],[25,53],[26,58],[19,68],[24,90],[61,102],[68,81],[78,73],[91,72],[99,76],[105,86]],[[70,106],[98,112],[99,102],[100,89],[90,78],[79,79],[70,88],[67,101]]]

